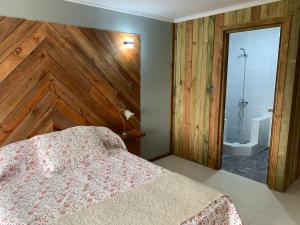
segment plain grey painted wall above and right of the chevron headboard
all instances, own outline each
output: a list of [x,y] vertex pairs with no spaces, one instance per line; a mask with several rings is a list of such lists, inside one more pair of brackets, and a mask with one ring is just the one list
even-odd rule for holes
[[169,152],[171,23],[63,0],[0,0],[0,15],[140,34],[142,156]]

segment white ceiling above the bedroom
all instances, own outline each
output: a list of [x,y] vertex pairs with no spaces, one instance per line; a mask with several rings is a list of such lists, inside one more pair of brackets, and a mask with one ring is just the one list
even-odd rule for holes
[[144,16],[167,22],[182,22],[278,0],[65,0],[84,5]]

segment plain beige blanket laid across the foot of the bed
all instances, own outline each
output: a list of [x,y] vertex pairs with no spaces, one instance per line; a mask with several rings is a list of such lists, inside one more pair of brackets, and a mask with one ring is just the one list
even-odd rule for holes
[[221,194],[169,173],[136,190],[65,216],[53,225],[174,225],[204,210]]

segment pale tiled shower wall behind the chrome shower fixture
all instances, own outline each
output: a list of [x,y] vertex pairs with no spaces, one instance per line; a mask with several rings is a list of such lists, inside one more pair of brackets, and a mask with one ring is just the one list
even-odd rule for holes
[[240,57],[245,48],[249,55],[246,66],[243,140],[250,140],[251,119],[265,115],[272,116],[268,109],[274,105],[280,28],[230,34],[227,73],[226,118],[227,137],[237,138],[239,124],[239,100],[243,91],[244,58]]

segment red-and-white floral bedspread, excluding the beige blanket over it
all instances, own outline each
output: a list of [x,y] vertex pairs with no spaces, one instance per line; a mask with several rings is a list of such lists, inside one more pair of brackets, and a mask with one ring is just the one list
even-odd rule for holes
[[[107,128],[37,136],[0,149],[0,224],[49,224],[165,174],[128,153]],[[195,224],[242,223],[229,198],[222,197],[182,223]]]

